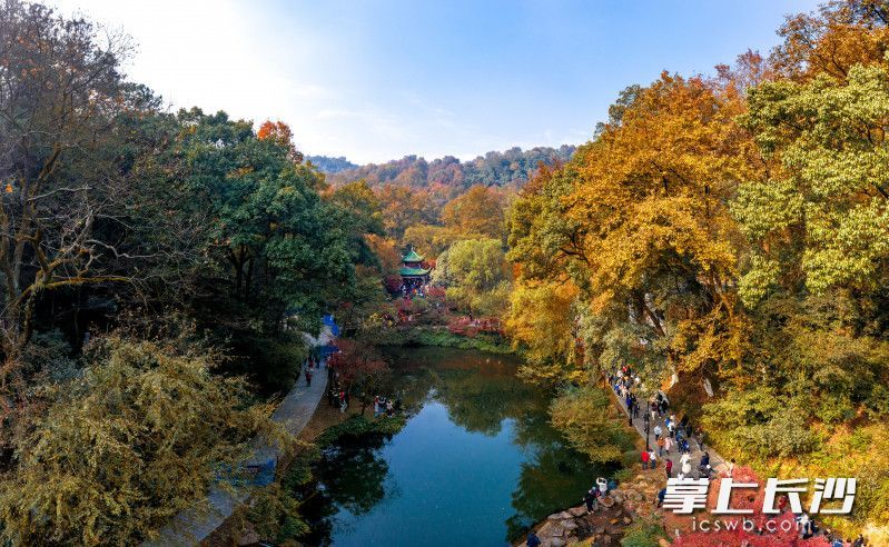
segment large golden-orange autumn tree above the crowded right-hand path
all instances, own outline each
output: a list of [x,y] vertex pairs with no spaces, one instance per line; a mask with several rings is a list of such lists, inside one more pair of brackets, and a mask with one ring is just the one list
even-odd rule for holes
[[611,326],[600,340],[614,329],[624,334],[611,340],[648,340],[654,377],[664,359],[712,372],[741,357],[728,209],[751,170],[732,121],[741,107],[711,82],[669,74],[624,98],[593,142],[520,197],[511,257],[520,279],[581,288]]

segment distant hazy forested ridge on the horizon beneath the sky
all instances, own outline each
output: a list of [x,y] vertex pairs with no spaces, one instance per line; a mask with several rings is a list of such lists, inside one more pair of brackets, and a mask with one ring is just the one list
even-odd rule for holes
[[385,163],[368,163],[336,170],[325,169],[324,166],[338,168],[352,163],[345,158],[324,156],[309,156],[308,159],[327,173],[327,180],[335,186],[364,179],[371,186],[392,183],[418,188],[433,186],[470,188],[475,185],[520,187],[527,182],[540,162],[547,166],[565,162],[571,159],[574,150],[576,147],[571,145],[559,148],[535,147],[529,150],[513,147],[503,152],[487,152],[466,162],[453,156],[432,161],[417,156],[405,156]]

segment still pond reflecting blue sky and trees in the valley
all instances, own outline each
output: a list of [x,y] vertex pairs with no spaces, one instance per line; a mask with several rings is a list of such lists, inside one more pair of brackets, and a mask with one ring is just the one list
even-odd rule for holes
[[450,348],[388,358],[407,422],[325,451],[307,544],[502,546],[580,504],[606,471],[550,426],[551,394],[515,377],[517,359]]

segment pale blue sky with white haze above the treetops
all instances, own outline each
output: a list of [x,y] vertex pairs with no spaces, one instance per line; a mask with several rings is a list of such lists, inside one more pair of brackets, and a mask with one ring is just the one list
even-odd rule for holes
[[589,140],[624,87],[710,73],[816,1],[58,0],[128,33],[171,108],[284,120],[355,162]]

